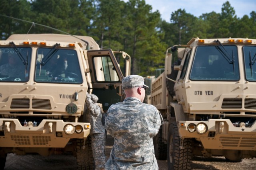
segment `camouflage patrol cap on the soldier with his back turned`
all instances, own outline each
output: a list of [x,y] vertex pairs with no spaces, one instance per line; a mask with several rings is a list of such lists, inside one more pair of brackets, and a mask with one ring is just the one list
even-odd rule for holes
[[122,79],[122,88],[134,88],[134,87],[148,87],[144,84],[144,78],[138,75],[126,76]]

